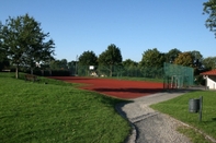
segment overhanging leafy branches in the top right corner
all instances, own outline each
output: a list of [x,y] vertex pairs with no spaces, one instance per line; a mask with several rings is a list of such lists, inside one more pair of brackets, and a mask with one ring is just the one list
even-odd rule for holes
[[216,36],[216,0],[208,0],[207,2],[204,2],[203,5],[203,13],[209,15],[205,21],[205,25],[214,32]]

